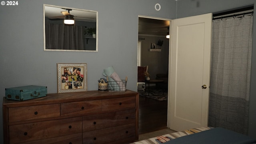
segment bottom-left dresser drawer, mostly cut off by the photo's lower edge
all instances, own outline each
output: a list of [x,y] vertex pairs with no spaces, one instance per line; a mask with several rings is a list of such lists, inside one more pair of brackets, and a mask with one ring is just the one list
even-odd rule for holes
[[82,144],[82,133],[58,136],[55,138],[46,138],[43,140],[24,142],[20,144]]

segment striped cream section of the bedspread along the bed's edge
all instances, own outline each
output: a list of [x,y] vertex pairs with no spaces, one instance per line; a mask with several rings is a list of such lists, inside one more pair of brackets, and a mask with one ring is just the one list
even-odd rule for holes
[[168,141],[170,141],[174,138],[179,138],[179,137],[182,137],[182,136],[202,132],[202,131],[209,130],[209,129],[211,129],[211,128],[210,127],[192,128],[192,129],[189,129],[189,130],[174,132],[174,133],[171,133],[171,134],[165,134],[165,135],[162,135],[162,136],[157,136],[157,137],[149,138],[149,139],[146,139],[146,140],[141,140],[141,141],[134,142],[134,143],[131,143],[131,144],[162,144],[162,143],[168,142]]

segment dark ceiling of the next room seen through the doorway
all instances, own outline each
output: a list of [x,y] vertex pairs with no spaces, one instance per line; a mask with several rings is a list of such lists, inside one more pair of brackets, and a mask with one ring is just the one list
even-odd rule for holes
[[139,35],[166,36],[170,21],[139,17]]

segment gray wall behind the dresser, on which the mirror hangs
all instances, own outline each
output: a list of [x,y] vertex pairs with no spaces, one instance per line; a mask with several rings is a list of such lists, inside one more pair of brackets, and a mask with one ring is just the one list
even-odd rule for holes
[[[173,0],[19,0],[0,5],[0,143],[3,140],[2,98],[5,88],[40,85],[57,92],[57,63],[87,63],[88,90],[108,66],[128,76],[127,89],[137,90],[138,15],[174,19]],[[161,10],[156,11],[156,3]],[[98,11],[98,52],[50,52],[43,45],[43,4]]]

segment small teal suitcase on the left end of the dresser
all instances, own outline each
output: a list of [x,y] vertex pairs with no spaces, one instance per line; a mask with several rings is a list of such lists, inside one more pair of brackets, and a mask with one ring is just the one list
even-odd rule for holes
[[47,86],[20,86],[6,88],[5,97],[10,100],[30,100],[47,96]]

